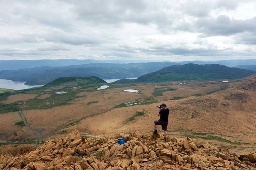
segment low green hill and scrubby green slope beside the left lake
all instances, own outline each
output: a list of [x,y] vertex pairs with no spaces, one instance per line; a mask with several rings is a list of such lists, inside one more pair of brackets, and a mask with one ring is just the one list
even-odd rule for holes
[[[106,84],[106,81],[98,77],[60,77],[42,87],[0,93],[0,114],[21,109],[49,109],[60,105],[68,105],[74,99],[79,98],[76,94],[81,91],[96,91],[98,87]],[[64,93],[60,95],[58,92]],[[1,101],[8,99],[10,95],[18,94],[36,94],[37,97],[10,104],[1,103]],[[48,95],[48,97],[40,99],[40,96],[43,95]]]

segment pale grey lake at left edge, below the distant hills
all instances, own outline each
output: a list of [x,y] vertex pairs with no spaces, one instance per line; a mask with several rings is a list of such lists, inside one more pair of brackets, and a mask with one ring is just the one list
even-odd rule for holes
[[25,83],[26,82],[0,79],[0,89],[23,90],[23,89],[30,89],[32,87],[43,86],[43,85],[25,85]]

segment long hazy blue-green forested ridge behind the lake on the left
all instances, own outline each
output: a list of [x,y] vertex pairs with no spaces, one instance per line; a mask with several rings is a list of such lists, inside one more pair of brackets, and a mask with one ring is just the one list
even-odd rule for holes
[[36,67],[19,70],[2,70],[0,71],[0,79],[26,81],[26,85],[42,85],[49,83],[58,77],[97,76],[101,79],[120,79],[139,77],[174,64],[176,63],[91,63],[84,65],[69,65],[65,67]]

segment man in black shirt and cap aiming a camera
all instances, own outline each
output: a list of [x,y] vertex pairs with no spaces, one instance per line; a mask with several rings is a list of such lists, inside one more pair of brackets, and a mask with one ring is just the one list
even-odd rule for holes
[[159,107],[159,111],[157,113],[158,116],[160,116],[160,119],[158,121],[154,121],[154,132],[153,134],[158,134],[157,132],[157,125],[161,125],[162,129],[164,130],[164,141],[166,141],[167,136],[167,125],[168,125],[168,117],[169,117],[170,110],[166,108],[166,104],[162,103]]

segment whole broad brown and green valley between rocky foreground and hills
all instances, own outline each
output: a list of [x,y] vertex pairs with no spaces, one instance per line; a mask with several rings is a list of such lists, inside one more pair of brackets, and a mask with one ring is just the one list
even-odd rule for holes
[[[52,82],[46,87],[1,95],[4,107],[0,114],[0,139],[38,143],[37,136],[15,125],[22,121],[19,111],[28,126],[40,132],[42,140],[63,137],[74,129],[84,136],[150,133],[153,121],[159,119],[156,105],[166,103],[170,109],[168,135],[207,140],[238,153],[255,150],[254,75],[238,80],[161,83],[80,81]],[[109,87],[97,90],[102,85]],[[67,93],[56,94],[61,91]],[[163,135],[159,127],[158,130]]]

